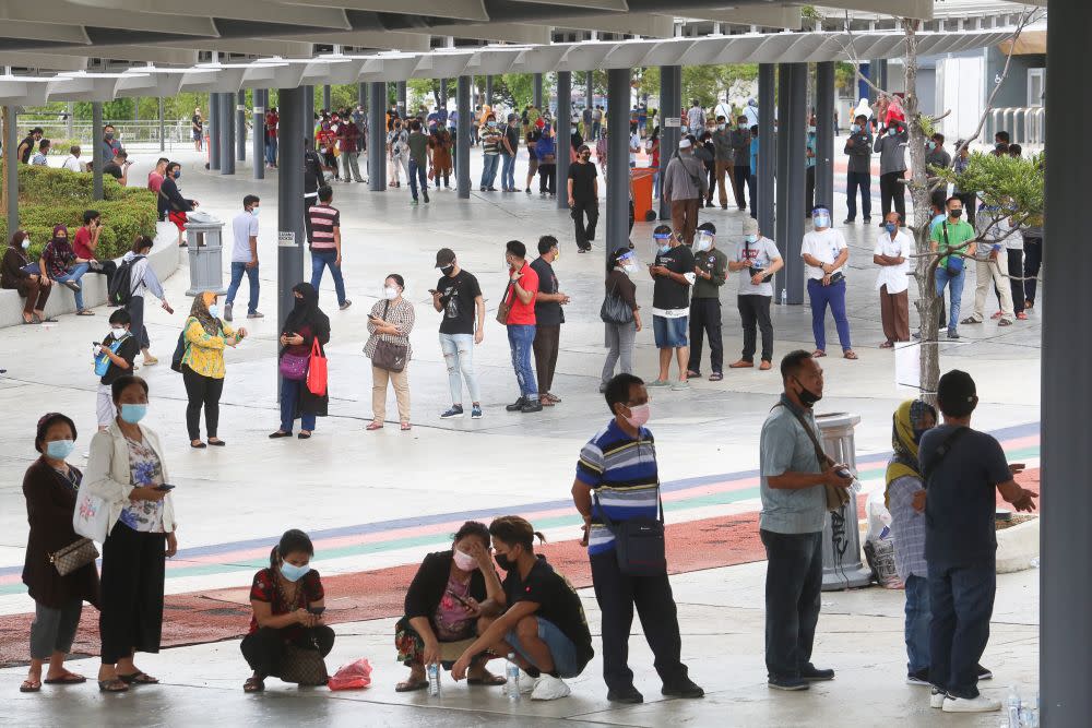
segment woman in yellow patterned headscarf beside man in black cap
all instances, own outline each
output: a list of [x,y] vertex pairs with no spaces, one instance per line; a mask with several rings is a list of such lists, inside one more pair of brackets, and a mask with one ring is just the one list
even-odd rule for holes
[[894,561],[899,578],[906,584],[906,681],[929,683],[929,570],[925,562],[925,513],[914,505],[925,492],[917,444],[937,423],[937,410],[921,399],[903,402],[894,411],[883,498],[891,511]]

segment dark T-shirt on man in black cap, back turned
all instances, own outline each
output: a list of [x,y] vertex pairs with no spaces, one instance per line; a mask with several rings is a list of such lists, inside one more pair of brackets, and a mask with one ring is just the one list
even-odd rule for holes
[[[922,435],[923,472],[956,430],[950,425]],[[1012,479],[1005,451],[992,435],[959,435],[929,478],[925,501],[925,560],[929,566],[992,564],[997,551],[994,514],[997,486]]]

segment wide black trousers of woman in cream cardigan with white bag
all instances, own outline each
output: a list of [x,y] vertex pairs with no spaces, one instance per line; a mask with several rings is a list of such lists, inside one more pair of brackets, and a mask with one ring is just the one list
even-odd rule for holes
[[134,652],[159,652],[166,534],[133,530],[118,521],[103,544],[98,632],[103,665]]

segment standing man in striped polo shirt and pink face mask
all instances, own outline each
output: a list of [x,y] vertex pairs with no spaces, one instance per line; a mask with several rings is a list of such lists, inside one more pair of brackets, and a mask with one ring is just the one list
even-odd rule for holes
[[[629,518],[660,515],[660,475],[656,446],[649,421],[649,392],[632,374],[618,374],[606,389],[614,419],[580,451],[572,500],[584,516],[584,544],[592,563],[595,600],[603,613],[603,679],[607,700],[641,703],[629,669],[629,631],[633,606],[655,655],[664,695],[702,697],[705,693],[688,677],[682,664],[682,639],[672,585],[665,571],[656,576],[622,573],[615,552],[615,537],[604,515],[614,524]],[[593,503],[592,494],[595,494]]]

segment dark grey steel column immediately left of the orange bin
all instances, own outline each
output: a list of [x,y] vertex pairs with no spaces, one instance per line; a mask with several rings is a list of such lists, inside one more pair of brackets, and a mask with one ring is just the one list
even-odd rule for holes
[[[607,71],[606,254],[629,244],[629,92],[630,69]],[[617,109],[626,109],[619,114]],[[560,157],[560,151],[558,157]]]

